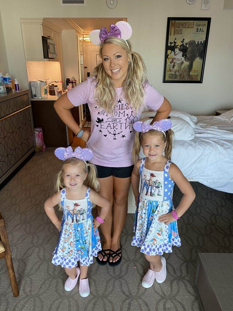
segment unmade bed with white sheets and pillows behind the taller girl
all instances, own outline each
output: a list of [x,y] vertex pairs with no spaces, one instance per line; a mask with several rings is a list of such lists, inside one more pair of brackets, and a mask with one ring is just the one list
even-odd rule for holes
[[[154,115],[154,111],[143,112],[140,120],[150,123]],[[220,116],[193,116],[172,110],[170,117],[175,133],[171,160],[185,177],[233,193],[233,109]],[[134,212],[131,188],[128,204],[128,212]]]

